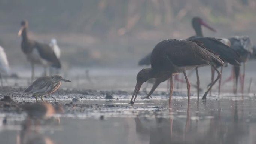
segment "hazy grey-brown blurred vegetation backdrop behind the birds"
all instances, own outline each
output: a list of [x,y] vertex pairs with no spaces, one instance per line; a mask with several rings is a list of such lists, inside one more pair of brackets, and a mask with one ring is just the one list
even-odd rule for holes
[[57,39],[67,67],[134,67],[159,41],[194,35],[194,16],[217,30],[205,36],[256,41],[256,0],[0,0],[0,45],[11,65],[27,64],[17,36],[27,19],[32,39]]

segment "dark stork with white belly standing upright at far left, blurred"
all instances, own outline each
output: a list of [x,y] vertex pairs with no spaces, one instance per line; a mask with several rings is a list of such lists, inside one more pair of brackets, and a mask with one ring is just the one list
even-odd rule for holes
[[19,30],[18,35],[22,36],[21,48],[23,53],[27,56],[28,61],[31,62],[32,66],[32,75],[31,80],[34,79],[34,65],[41,64],[45,69],[46,67],[52,66],[55,68],[61,68],[61,64],[59,59],[54,53],[54,50],[48,45],[44,43],[39,43],[35,40],[32,40],[28,37],[27,34],[28,22],[21,22],[21,29]]

